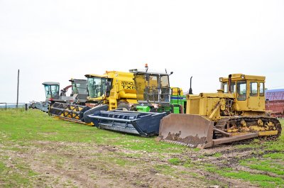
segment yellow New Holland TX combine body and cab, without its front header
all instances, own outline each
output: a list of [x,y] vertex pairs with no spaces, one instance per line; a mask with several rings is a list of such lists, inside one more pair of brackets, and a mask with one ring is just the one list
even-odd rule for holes
[[132,72],[107,71],[103,75],[86,74],[88,106],[109,105],[109,110],[130,109],[137,103]]

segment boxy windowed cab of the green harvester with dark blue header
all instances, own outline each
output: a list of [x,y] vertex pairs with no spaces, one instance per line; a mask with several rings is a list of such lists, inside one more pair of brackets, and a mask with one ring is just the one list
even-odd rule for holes
[[166,73],[133,72],[139,103],[170,103],[170,82]]

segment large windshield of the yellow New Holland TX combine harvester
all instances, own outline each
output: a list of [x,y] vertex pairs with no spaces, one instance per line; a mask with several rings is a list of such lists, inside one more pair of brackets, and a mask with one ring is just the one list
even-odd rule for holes
[[87,80],[87,88],[90,98],[102,96],[107,90],[107,78],[89,77]]

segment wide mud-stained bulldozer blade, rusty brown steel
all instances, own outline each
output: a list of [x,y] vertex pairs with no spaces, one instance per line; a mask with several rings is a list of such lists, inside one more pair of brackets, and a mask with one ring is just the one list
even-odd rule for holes
[[159,137],[169,143],[202,148],[212,145],[214,123],[202,116],[169,114],[160,121]]

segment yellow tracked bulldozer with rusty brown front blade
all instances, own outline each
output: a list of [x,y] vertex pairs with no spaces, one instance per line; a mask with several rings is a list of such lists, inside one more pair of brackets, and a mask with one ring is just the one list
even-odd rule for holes
[[281,124],[265,109],[262,76],[229,74],[220,77],[217,93],[187,94],[186,114],[160,121],[159,138],[192,148],[263,137],[278,138]]

